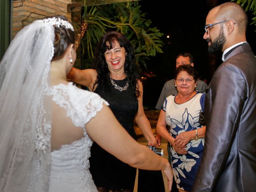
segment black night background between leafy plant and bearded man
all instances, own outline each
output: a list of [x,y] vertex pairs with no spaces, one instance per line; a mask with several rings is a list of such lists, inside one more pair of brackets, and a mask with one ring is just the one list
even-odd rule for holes
[[[164,53],[150,57],[147,68],[142,67],[146,80],[143,82],[143,104],[145,108],[154,109],[162,87],[167,80],[173,78],[176,56],[180,52],[190,52],[194,56],[194,67],[200,79],[209,84],[216,68],[221,64],[221,55],[210,55],[207,43],[203,39],[205,19],[208,11],[216,5],[229,2],[225,0],[182,0],[182,1],[149,1],[140,0],[141,10],[146,18],[152,21],[151,27],[157,27],[164,33],[162,40]],[[252,13],[247,12],[249,24],[247,42],[256,53],[255,26],[250,25]],[[170,38],[166,38],[170,35]],[[148,77],[152,72],[156,76]]]

